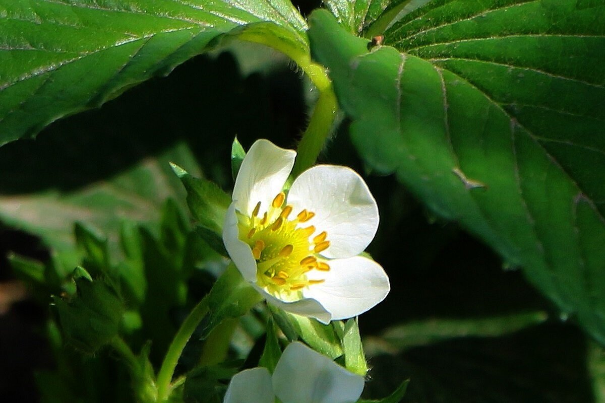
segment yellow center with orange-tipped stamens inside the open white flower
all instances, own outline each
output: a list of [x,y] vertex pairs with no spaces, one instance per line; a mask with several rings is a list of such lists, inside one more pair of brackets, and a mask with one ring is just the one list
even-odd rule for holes
[[[329,271],[330,266],[319,253],[330,246],[325,231],[316,232],[305,222],[315,216],[306,209],[293,214],[293,207],[285,205],[281,192],[260,216],[258,202],[250,217],[240,216],[240,239],[250,245],[257,260],[257,283],[271,294],[289,295],[304,287],[324,282],[307,278],[312,270]],[[286,294],[286,295],[284,295]]]

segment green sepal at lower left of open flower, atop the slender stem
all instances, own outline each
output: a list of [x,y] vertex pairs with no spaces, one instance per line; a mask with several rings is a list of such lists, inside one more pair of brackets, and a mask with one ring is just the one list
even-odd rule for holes
[[208,337],[223,320],[247,314],[262,300],[263,297],[244,280],[235,265],[227,266],[208,294],[209,314],[200,324],[200,339]]

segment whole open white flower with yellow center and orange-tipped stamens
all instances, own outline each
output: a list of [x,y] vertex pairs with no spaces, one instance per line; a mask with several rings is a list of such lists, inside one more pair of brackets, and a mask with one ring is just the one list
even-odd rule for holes
[[284,184],[296,152],[258,140],[235,179],[223,242],[244,279],[269,303],[322,323],[382,301],[387,274],[358,256],[376,234],[378,207],[352,169],[318,165]]

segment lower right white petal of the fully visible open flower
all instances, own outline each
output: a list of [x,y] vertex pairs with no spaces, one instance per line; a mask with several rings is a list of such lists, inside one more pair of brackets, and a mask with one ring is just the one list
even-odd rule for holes
[[362,256],[329,260],[325,282],[304,289],[332,314],[332,320],[362,314],[384,300],[391,286],[382,266]]

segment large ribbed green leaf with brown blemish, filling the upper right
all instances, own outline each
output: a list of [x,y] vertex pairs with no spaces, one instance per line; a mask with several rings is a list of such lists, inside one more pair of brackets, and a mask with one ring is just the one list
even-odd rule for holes
[[433,1],[369,53],[325,11],[310,24],[367,164],[605,343],[605,2]]

